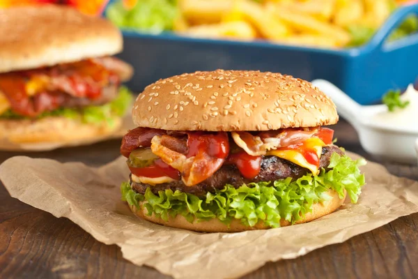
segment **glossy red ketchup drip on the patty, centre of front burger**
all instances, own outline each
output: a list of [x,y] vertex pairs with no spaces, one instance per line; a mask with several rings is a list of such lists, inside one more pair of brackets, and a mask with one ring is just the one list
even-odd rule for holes
[[251,156],[245,151],[240,151],[231,154],[228,162],[236,165],[246,179],[254,179],[260,173],[261,156]]

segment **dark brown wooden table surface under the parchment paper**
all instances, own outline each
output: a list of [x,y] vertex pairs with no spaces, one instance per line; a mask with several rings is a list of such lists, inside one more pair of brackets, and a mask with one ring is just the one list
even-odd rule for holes
[[[338,144],[371,159],[346,123],[334,126]],[[33,157],[102,165],[118,156],[119,141],[32,153]],[[0,153],[0,162],[17,153]],[[418,168],[384,163],[389,172],[418,180]],[[24,169],[22,169],[24,171]],[[245,278],[417,278],[418,213],[297,259],[268,263]],[[0,186],[0,278],[169,278],[134,266],[118,246],[95,241],[66,218],[11,198]]]

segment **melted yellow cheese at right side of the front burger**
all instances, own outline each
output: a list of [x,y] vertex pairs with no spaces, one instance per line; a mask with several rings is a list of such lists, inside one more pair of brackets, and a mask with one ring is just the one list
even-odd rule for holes
[[[304,142],[303,146],[305,149],[315,151],[316,155],[318,155],[318,159],[320,159],[322,148],[325,145],[326,144],[322,140],[318,139],[318,137],[311,137],[310,139]],[[271,150],[271,151],[268,151],[267,155],[277,156],[284,160],[291,161],[292,163],[295,163],[296,165],[300,165],[301,167],[305,167],[309,169],[314,175],[319,174],[318,167],[316,167],[316,165],[312,165],[308,163],[307,159],[305,159],[302,153],[298,150],[295,150],[295,149]]]

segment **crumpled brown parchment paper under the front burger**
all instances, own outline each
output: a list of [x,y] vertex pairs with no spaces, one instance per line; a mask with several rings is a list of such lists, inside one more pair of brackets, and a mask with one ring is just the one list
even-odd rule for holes
[[229,234],[172,229],[132,216],[119,193],[128,175],[125,158],[93,168],[15,157],[0,166],[0,179],[13,197],[69,218],[98,241],[117,244],[134,264],[174,278],[236,278],[265,262],[299,257],[418,211],[417,181],[392,176],[376,163],[362,170],[367,184],[357,204],[311,223]]

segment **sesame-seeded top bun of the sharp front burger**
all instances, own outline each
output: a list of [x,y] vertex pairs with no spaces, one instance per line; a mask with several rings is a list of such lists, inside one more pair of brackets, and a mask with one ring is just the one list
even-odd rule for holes
[[164,130],[277,130],[338,121],[332,100],[310,82],[246,70],[159,80],[138,96],[132,116],[139,127]]

